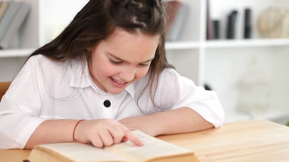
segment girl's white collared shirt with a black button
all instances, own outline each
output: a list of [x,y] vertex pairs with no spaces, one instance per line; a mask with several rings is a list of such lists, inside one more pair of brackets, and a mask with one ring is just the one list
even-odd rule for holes
[[[0,148],[24,148],[37,126],[49,119],[116,119],[189,107],[215,127],[224,112],[217,95],[194,85],[174,69],[160,77],[153,107],[149,91],[137,98],[148,75],[120,94],[101,90],[92,80],[87,62],[57,62],[43,55],[31,57],[0,102]],[[110,101],[109,107],[104,101]],[[181,117],[180,117],[181,118]]]

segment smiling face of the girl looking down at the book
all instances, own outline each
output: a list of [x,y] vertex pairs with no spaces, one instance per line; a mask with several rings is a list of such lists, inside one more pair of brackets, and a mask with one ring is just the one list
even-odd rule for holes
[[129,84],[148,71],[160,36],[130,34],[116,29],[92,50],[88,61],[90,74],[98,87],[111,94],[120,94]]

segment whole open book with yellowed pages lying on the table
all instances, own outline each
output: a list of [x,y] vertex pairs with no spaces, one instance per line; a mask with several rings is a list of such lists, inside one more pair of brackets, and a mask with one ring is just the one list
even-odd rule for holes
[[139,130],[133,131],[143,143],[122,142],[96,148],[91,144],[55,143],[36,145],[30,162],[199,162],[194,153],[185,148],[151,137]]

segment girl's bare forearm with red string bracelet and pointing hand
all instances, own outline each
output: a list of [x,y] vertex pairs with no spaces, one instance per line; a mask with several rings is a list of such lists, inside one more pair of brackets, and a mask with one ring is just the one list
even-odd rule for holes
[[[32,149],[36,144],[73,142],[73,130],[78,121],[43,121],[30,136],[24,148]],[[110,119],[79,122],[75,128],[74,138],[75,141],[81,143],[91,142],[98,148],[126,140],[130,140],[136,145],[143,145],[124,125]]]

